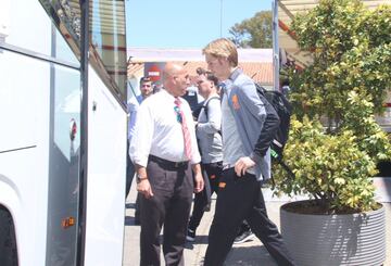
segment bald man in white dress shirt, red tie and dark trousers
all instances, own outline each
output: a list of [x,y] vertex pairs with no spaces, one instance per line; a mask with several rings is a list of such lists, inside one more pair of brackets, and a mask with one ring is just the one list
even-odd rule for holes
[[192,192],[204,186],[190,106],[180,98],[189,84],[182,66],[167,63],[164,89],[146,99],[138,111],[129,153],[136,165],[137,190],[142,194],[140,265],[160,265],[163,224],[165,263],[184,265]]

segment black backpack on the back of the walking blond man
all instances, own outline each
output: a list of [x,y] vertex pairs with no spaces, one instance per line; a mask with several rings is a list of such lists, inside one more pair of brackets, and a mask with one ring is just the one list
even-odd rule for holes
[[[261,137],[263,136],[265,139],[262,148],[258,148],[260,153],[266,153],[266,150],[270,147],[272,157],[281,161],[282,151],[289,136],[292,105],[281,92],[277,90],[266,90],[261,85],[254,84],[260,99],[265,104],[266,109],[266,119],[261,131]],[[268,123],[268,119],[276,119],[276,114],[279,118],[278,126],[276,126],[276,123]],[[275,126],[268,127],[268,124]]]

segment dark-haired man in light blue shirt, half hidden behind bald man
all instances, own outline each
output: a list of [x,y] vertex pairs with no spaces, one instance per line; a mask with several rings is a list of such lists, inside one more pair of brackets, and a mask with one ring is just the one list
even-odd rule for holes
[[[136,117],[139,105],[143,100],[150,97],[153,93],[152,80],[150,77],[140,78],[140,91],[141,93],[135,98],[131,98],[127,104],[128,111],[128,141],[127,141],[127,151],[129,151],[129,143],[131,142],[131,137],[135,132]],[[135,176],[135,165],[131,163],[130,156],[127,155],[127,167],[126,167],[126,193],[127,198],[130,191],[131,181]],[[139,195],[137,194],[136,204],[135,204],[135,225],[140,224],[140,204]]]

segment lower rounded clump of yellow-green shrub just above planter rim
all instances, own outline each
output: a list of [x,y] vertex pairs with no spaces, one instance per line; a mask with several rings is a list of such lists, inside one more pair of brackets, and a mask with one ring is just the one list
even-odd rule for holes
[[310,194],[326,213],[361,212],[375,206],[371,179],[376,164],[361,151],[350,130],[325,134],[319,122],[293,117],[285,162],[294,173],[288,177],[276,165],[276,190],[289,195]]

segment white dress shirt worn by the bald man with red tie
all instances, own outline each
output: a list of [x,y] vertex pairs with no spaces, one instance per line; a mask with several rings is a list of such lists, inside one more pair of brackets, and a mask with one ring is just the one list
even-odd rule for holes
[[[185,99],[179,99],[191,137],[190,163],[197,164],[201,161],[201,156],[197,145],[191,110]],[[175,98],[163,89],[141,103],[129,148],[129,155],[135,164],[147,167],[150,154],[172,162],[188,161],[181,124],[177,121],[174,101]]]

